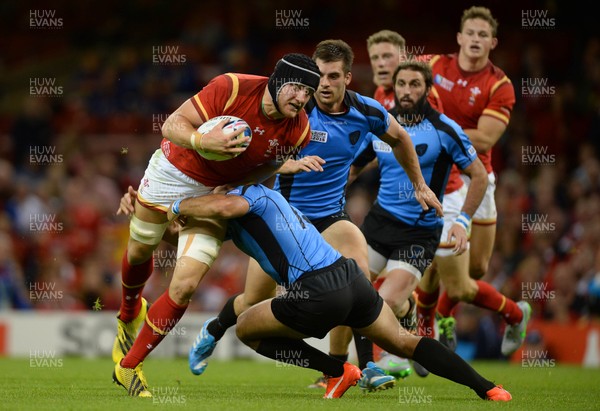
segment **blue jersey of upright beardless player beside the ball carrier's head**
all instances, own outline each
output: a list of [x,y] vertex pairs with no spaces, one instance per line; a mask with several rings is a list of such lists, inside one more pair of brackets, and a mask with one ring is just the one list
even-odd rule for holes
[[275,190],[311,220],[343,211],[352,161],[366,147],[367,135],[380,136],[390,125],[387,111],[372,98],[347,90],[344,105],[345,113],[327,114],[311,99],[306,105],[311,140],[299,155],[320,156],[323,171],[278,175],[275,182]]

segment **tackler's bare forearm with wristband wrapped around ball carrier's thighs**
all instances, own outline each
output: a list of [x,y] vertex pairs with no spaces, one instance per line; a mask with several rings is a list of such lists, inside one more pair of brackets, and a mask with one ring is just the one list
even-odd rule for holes
[[250,204],[237,195],[208,194],[202,197],[190,197],[174,201],[167,212],[169,221],[184,215],[196,218],[215,218],[227,220],[248,213]]

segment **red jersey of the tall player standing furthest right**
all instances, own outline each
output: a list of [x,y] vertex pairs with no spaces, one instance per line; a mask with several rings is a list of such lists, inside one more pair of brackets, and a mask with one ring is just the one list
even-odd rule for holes
[[[491,116],[508,125],[515,104],[515,90],[504,72],[491,61],[477,72],[467,72],[458,66],[458,54],[434,56],[430,65],[433,86],[444,114],[463,129],[477,128],[479,117]],[[479,153],[488,173],[492,170],[492,150]],[[452,192],[462,186],[456,166],[446,186]]]

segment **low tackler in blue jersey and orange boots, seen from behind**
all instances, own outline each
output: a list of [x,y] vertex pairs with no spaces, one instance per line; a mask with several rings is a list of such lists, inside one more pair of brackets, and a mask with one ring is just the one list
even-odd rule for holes
[[[352,259],[343,257],[281,194],[262,185],[228,194],[177,200],[168,216],[229,219],[228,235],[256,259],[277,284],[293,289],[240,315],[238,338],[257,353],[328,375],[324,398],[339,398],[361,371],[303,341],[323,338],[338,325],[397,355],[414,358],[431,372],[473,389],[480,398],[509,401],[510,393],[486,380],[454,352],[431,338],[400,327],[392,310]],[[293,352],[294,357],[282,355]],[[141,382],[145,384],[145,382]]]

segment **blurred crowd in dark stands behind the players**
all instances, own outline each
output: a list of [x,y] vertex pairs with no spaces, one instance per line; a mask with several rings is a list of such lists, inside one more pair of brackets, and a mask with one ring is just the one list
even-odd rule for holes
[[[356,55],[350,88],[371,96],[370,34],[398,31],[409,52],[456,52],[462,11],[483,5],[500,22],[492,61],[517,96],[494,148],[498,230],[486,279],[529,298],[537,318],[600,316],[600,33],[585,5],[259,3],[0,4],[0,309],[118,309],[128,236],[119,199],[137,188],[169,113],[213,76],[269,75],[281,55],[311,55],[320,40],[341,38]],[[525,10],[554,24],[527,27]],[[282,26],[278,18],[290,16],[299,24]],[[531,79],[544,87],[528,93]],[[349,187],[357,224],[376,189],[369,175]],[[151,301],[169,282],[175,250],[161,245],[154,260]],[[243,289],[246,265],[226,243],[192,309],[219,310]],[[497,356],[501,320],[466,307],[459,316],[477,356]]]

